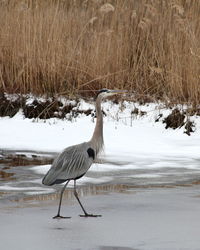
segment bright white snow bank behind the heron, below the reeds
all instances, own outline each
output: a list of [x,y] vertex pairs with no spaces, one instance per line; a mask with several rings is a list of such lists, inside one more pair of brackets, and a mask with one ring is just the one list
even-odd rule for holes
[[[94,108],[92,104],[84,101],[81,105],[80,108],[85,110]],[[106,102],[102,106],[107,114],[104,117],[106,158],[130,163],[135,162],[137,158],[146,157],[158,160],[173,157],[199,158],[200,118],[193,118],[196,131],[188,136],[183,128],[165,129],[162,121],[155,122],[160,112],[170,112],[162,110],[159,105],[139,106],[128,102],[116,105]],[[146,111],[147,114],[131,115],[135,107]],[[60,152],[67,146],[89,140],[94,126],[95,119],[84,114],[71,121],[56,118],[44,121],[24,119],[19,112],[13,118],[0,118],[0,149]],[[139,167],[141,164],[134,165]]]

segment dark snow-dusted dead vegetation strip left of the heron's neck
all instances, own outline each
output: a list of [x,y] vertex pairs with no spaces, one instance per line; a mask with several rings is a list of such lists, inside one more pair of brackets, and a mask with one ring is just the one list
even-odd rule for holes
[[30,101],[30,98],[26,95],[17,95],[15,98],[10,98],[9,95],[6,96],[5,94],[0,95],[0,117],[13,117],[20,110],[24,117],[29,119],[59,118],[71,120],[81,114],[95,116],[93,109],[80,109],[78,99],[76,101],[65,99],[63,103],[58,98],[35,97]]

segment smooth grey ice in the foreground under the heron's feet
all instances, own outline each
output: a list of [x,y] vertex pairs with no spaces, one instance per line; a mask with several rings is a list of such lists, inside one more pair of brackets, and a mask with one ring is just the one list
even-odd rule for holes
[[[7,204],[0,208],[0,242],[4,250],[197,250],[200,246],[199,186],[132,189],[81,197],[90,213],[81,218],[73,198]],[[8,209],[9,205],[9,209]],[[20,208],[19,208],[20,206]]]

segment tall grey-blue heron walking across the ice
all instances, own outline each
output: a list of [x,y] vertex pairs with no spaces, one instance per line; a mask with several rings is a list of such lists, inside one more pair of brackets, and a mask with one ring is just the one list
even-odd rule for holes
[[70,181],[74,181],[74,196],[77,199],[83,215],[81,217],[99,217],[101,215],[89,214],[83,207],[76,190],[76,181],[83,177],[91,165],[96,160],[99,153],[102,151],[104,146],[103,140],[103,114],[101,111],[101,102],[104,98],[122,94],[127,91],[125,90],[110,90],[101,89],[98,91],[96,97],[96,125],[94,128],[93,135],[88,142],[83,142],[81,144],[69,146],[65,148],[53,161],[51,168],[44,176],[42,183],[47,186],[52,186],[55,184],[65,183],[60,193],[60,200],[58,206],[57,215],[55,218],[71,218],[60,215],[62,197],[65,188]]

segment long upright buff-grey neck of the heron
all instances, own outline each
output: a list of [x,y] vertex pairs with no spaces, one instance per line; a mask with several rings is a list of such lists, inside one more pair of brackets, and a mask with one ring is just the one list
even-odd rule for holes
[[96,125],[91,139],[91,144],[98,154],[103,148],[103,115],[101,111],[101,97],[96,100]]

